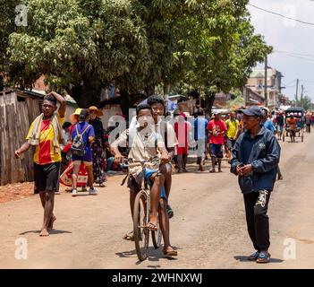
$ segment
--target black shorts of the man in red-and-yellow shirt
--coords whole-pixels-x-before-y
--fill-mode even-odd
[[[34,172],[35,194],[43,191],[59,191],[60,162],[45,165],[35,163]]]

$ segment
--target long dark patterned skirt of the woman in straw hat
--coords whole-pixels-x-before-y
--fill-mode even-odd
[[[93,173],[94,182],[102,184],[106,181],[106,174],[104,170],[104,158],[103,158],[103,148],[99,140],[94,141],[91,144],[91,151],[93,155]]]

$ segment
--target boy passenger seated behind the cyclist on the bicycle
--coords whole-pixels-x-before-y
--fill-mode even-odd
[[[174,159],[174,149],[178,145],[178,141],[175,136],[174,127],[162,119],[165,116],[165,101],[159,96],[150,96],[148,104],[151,108],[154,122],[155,131],[163,137],[165,143],[165,149],[168,152],[169,162],[160,165],[159,171],[165,177],[165,195],[166,195],[166,211],[169,218],[174,216],[174,211],[169,204],[169,196],[173,178],[173,167],[171,161]]]

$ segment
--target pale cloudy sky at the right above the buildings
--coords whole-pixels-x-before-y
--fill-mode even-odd
[[[314,0],[250,0],[250,4],[313,23],[294,22],[248,5],[255,32],[263,35],[267,44],[274,48],[268,56],[268,65],[284,74],[282,86],[286,89],[282,92],[293,100],[296,79],[300,79],[299,99],[303,84],[304,95],[314,101]]]

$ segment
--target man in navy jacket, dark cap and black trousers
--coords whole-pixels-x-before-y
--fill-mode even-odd
[[[276,182],[280,146],[274,133],[260,126],[259,107],[242,112],[245,132],[234,144],[231,172],[239,176],[248,231],[256,249],[248,260],[267,263],[270,259],[267,207]]]

